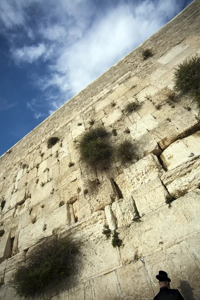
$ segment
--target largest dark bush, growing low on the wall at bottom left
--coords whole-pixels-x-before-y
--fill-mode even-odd
[[[71,235],[53,234],[40,240],[12,276],[10,284],[16,294],[36,297],[47,285],[72,275],[74,260],[80,258],[79,248],[80,242]]]

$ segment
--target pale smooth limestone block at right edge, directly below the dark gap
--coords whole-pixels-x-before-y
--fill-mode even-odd
[[[200,131],[178,139],[161,153],[160,158],[167,170],[171,170],[180,163],[187,161],[193,155],[200,154]]]

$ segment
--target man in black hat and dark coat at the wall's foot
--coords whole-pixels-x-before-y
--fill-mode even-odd
[[[178,289],[170,289],[168,275],[165,271],[159,271],[156,278],[159,280],[159,292],[154,296],[153,300],[184,300]]]

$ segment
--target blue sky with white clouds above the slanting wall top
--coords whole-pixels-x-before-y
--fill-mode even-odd
[[[0,0],[0,155],[191,0]]]

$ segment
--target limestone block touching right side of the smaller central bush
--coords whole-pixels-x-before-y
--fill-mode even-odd
[[[140,159],[149,153],[159,155],[161,149],[156,140],[149,134],[149,132],[136,138],[133,142],[136,156]]]

